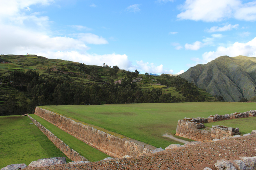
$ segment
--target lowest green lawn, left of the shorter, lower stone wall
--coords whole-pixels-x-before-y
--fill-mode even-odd
[[[0,169],[40,158],[65,156],[27,117],[1,116]],[[71,160],[66,157],[67,162]]]

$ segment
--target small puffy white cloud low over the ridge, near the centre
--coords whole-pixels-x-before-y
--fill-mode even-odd
[[[143,62],[141,61],[136,61],[138,70],[143,70],[144,72],[148,73],[162,73],[163,72],[163,64],[155,66],[154,63],[149,63],[149,62]]]

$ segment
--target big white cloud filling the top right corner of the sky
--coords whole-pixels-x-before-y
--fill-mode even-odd
[[[222,21],[228,18],[256,20],[256,2],[242,3],[241,0],[186,0],[177,18],[205,22]]]

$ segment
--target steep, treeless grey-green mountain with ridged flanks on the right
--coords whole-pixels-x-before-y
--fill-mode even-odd
[[[179,75],[213,96],[238,102],[256,96],[256,58],[221,56],[191,67]]]

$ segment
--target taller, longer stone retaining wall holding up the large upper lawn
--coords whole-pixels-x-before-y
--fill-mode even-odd
[[[36,107],[35,114],[114,158],[122,158],[124,155],[137,156],[141,153],[150,153],[150,150],[144,148],[143,145],[124,141],[121,138],[75,122],[51,111]]]

